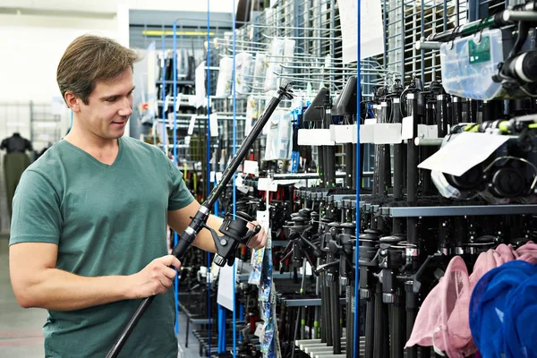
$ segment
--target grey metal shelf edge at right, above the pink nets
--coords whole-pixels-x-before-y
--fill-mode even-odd
[[[450,207],[382,208],[390,217],[463,217],[537,214],[537,205],[471,205]]]

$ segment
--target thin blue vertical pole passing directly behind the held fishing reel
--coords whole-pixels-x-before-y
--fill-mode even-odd
[[[237,103],[236,103],[236,73],[235,73],[235,60],[236,60],[236,13],[235,13],[235,0],[233,0],[233,76],[232,76],[232,88],[233,88],[233,157],[237,152]],[[237,196],[235,188],[235,175],[233,175],[233,215],[236,214]],[[235,263],[233,263],[233,285],[235,285]],[[233,290],[233,356],[237,355],[237,317],[235,310],[235,290]]]

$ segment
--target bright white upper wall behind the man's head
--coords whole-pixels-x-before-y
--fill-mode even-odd
[[[59,95],[55,82],[57,64],[69,43],[85,33],[116,38],[117,22],[0,15],[0,100],[50,101]]]

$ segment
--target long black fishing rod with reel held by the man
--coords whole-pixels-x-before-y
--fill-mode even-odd
[[[289,82],[286,86],[280,87],[277,91],[277,95],[270,100],[265,108],[265,112],[253,126],[250,134],[244,139],[243,144],[237,150],[237,153],[231,160],[229,166],[227,166],[226,171],[222,175],[222,180],[209,193],[208,199],[201,204],[196,215],[192,217],[189,226],[187,226],[184,229],[183,234],[180,235],[181,240],[179,240],[172,251],[172,255],[178,260],[183,260],[186,251],[194,242],[194,239],[200,233],[201,229],[206,228],[212,235],[217,247],[217,254],[215,255],[214,262],[220,267],[224,266],[226,263],[229,266],[232,266],[238,245],[241,243],[248,243],[248,240],[250,240],[254,234],[260,232],[261,226],[259,225],[255,226],[254,229],[248,229],[247,224],[251,221],[251,217],[240,211],[238,211],[235,216],[232,213],[226,214],[224,222],[218,230],[223,235],[218,235],[214,229],[207,226],[207,219],[209,218],[210,209],[215,205],[220,195],[225,192],[227,183],[232,180],[235,171],[241,165],[243,158],[250,152],[257,137],[260,135],[263,127],[267,124],[268,119],[274,113],[280,102],[284,98],[293,99],[292,86],[293,83]],[[121,352],[127,339],[131,336],[132,330],[136,327],[141,316],[147,311],[149,305],[153,303],[155,297],[156,296],[149,296],[141,301],[136,311],[132,314],[131,319],[125,325],[123,332],[108,351],[107,358],[115,358]]]

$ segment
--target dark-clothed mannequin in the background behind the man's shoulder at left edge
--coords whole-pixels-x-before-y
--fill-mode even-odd
[[[30,166],[30,157],[26,154],[26,150],[31,152],[33,149],[31,142],[22,138],[18,132],[14,132],[11,137],[4,139],[0,144],[0,149],[7,151],[4,156],[4,178],[7,191],[7,207],[11,217],[15,189],[21,179],[22,172]]]

